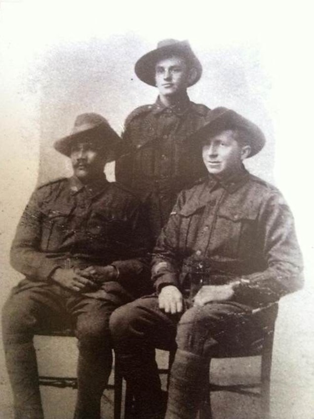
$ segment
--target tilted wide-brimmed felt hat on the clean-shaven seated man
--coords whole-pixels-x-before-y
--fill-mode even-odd
[[[262,130],[232,109],[224,107],[210,111],[206,123],[192,135],[192,139],[198,143],[222,131],[235,129],[245,134],[245,142],[251,147],[247,157],[252,157],[262,150],[266,142]]]

